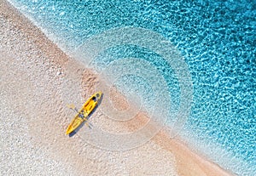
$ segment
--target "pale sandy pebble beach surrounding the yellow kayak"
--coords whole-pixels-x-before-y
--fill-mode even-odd
[[[131,150],[102,150],[65,130],[73,117],[63,101],[67,63],[86,99],[100,82],[30,20],[0,0],[0,173],[5,175],[233,175],[161,130]],[[72,91],[72,90],[71,90]],[[64,95],[63,95],[64,94]],[[127,102],[116,91],[120,108]],[[73,102],[70,102],[73,103]],[[100,111],[91,122],[109,130],[133,131],[147,122],[143,112],[129,124],[108,122]],[[100,119],[100,120],[99,120]],[[113,129],[114,125],[114,129]],[[85,128],[85,127],[84,127]]]

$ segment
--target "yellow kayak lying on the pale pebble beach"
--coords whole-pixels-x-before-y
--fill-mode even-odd
[[[90,113],[96,108],[98,102],[102,98],[102,92],[97,92],[93,94],[90,99],[88,99],[83,107],[78,111],[77,115],[73,118],[73,121],[68,125],[66,134],[72,133],[73,130],[79,128],[79,126],[88,120]]]

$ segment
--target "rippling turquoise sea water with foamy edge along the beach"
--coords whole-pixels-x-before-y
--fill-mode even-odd
[[[166,37],[183,54],[193,80],[192,111],[183,137],[234,173],[256,173],[255,2],[12,2],[70,53],[84,39],[114,27],[143,27]],[[144,48],[120,46],[106,51],[98,62],[125,57],[143,58],[160,70],[175,110],[177,78],[160,56]]]

